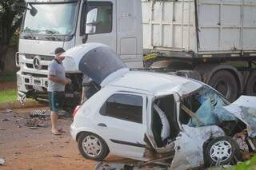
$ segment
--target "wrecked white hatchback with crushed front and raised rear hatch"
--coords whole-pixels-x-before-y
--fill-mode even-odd
[[[88,159],[103,160],[111,152],[186,169],[236,164],[241,152],[256,150],[255,97],[242,96],[230,105],[201,82],[130,70],[98,43],[63,55],[102,86],[75,110],[70,127]]]

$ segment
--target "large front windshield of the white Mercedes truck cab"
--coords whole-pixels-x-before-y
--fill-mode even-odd
[[[77,2],[32,5],[38,14],[32,16],[26,12],[23,33],[68,35],[73,32]]]

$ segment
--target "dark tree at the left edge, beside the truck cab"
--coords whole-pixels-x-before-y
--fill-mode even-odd
[[[22,9],[12,10],[16,1],[0,0],[0,72],[4,69],[10,40],[22,24]]]

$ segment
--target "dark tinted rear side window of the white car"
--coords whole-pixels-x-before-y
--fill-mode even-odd
[[[142,124],[143,98],[131,94],[114,94],[102,105],[100,114]]]

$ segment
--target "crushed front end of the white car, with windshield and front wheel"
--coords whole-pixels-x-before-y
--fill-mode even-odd
[[[175,143],[172,167],[236,164],[246,159],[246,153],[255,152],[255,101],[242,96],[230,104],[208,85],[182,95],[178,117],[183,130]]]

